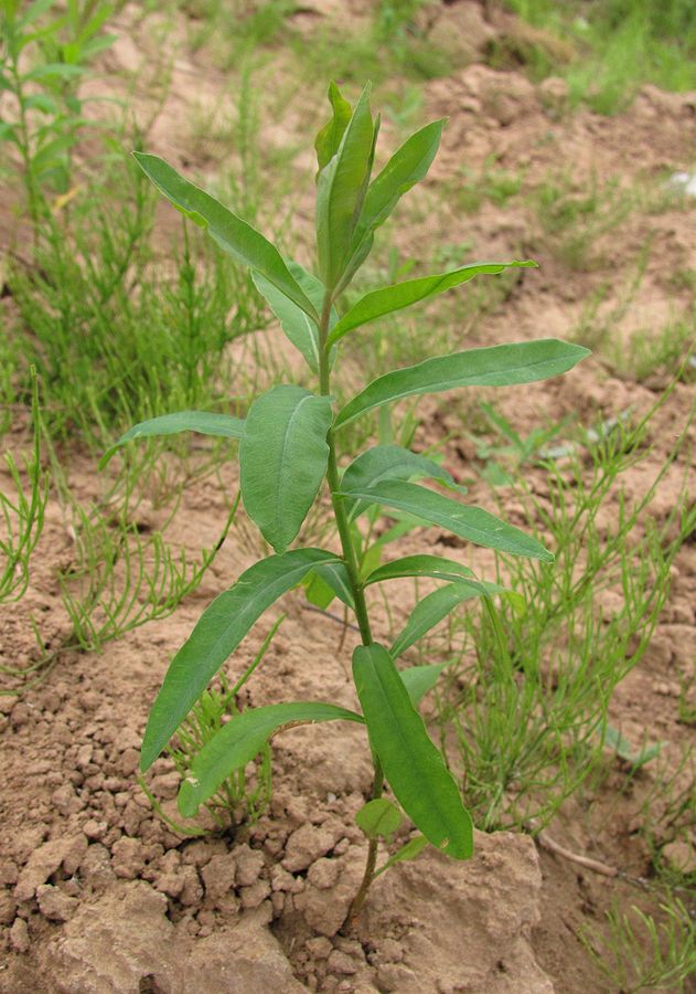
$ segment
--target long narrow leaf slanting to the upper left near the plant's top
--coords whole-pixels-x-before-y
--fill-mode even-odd
[[[176,210],[205,228],[221,248],[236,262],[259,272],[313,320],[319,320],[315,308],[292,277],[282,256],[263,234],[224,208],[210,193],[189,182],[158,156],[133,152],[133,157]]]

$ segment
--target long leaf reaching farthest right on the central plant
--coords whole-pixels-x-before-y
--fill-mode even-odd
[[[582,346],[543,338],[437,356],[373,380],[343,408],[334,427],[342,427],[382,404],[419,393],[440,393],[457,387],[512,387],[557,377],[589,355],[589,349]]]

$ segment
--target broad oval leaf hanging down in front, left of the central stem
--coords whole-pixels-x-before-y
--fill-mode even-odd
[[[274,387],[254,401],[239,446],[242,499],[276,552],[297,537],[326,472],[331,398]]]

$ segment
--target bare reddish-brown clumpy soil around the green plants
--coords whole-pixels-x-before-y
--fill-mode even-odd
[[[463,32],[461,8],[477,8],[483,45],[491,25],[475,4],[443,7],[452,21],[440,32]],[[450,14],[447,12],[450,11]],[[459,12],[458,12],[459,11]],[[465,38],[471,40],[471,24]],[[475,32],[474,32],[475,34]],[[462,34],[462,38],[464,34]],[[470,43],[470,42],[468,42]],[[463,42],[462,42],[463,44]],[[475,44],[474,44],[475,50]],[[139,59],[127,27],[107,54],[110,70]],[[475,54],[475,52],[474,52]],[[171,92],[153,127],[149,150],[175,162],[191,158],[172,121],[195,99],[214,99],[222,75],[185,53],[176,60]],[[454,183],[462,163],[474,172],[495,157],[496,169],[524,169],[527,179],[563,163],[575,177],[595,175],[638,188],[647,180],[693,167],[696,94],[671,95],[645,87],[617,117],[587,110],[568,115],[559,81],[534,86],[521,74],[482,64],[426,85],[428,115],[447,115],[442,150],[427,189]],[[142,97],[144,101],[144,97]],[[298,112],[299,114],[299,112]],[[272,128],[271,128],[272,130]],[[393,145],[387,121],[384,144]],[[696,208],[696,202],[694,203]],[[620,228],[598,235],[593,251],[603,267],[569,274],[543,233],[531,230],[524,205],[486,201],[474,213],[456,204],[414,220],[399,248],[417,253],[432,232],[442,243],[473,242],[479,257],[525,252],[540,265],[525,273],[504,305],[477,326],[474,338],[454,328],[451,348],[567,337],[583,305],[607,279],[621,274],[602,303],[621,298],[622,279],[642,245],[652,251],[640,289],[617,329],[629,348],[635,327],[657,325],[688,306],[693,289],[675,287],[675,271],[696,269],[694,208],[683,203],[655,213],[636,212]],[[300,208],[300,214],[302,209]],[[620,363],[592,358],[548,383],[496,398],[525,434],[545,419],[572,415],[596,424],[628,408],[646,411],[664,387],[636,383]],[[696,387],[679,383],[651,427],[653,450],[624,483],[640,494],[684,431]],[[456,403],[452,400],[452,403]],[[435,402],[419,408],[424,441],[461,431],[461,419]],[[21,436],[14,441],[21,443]],[[696,431],[688,429],[688,443]],[[458,479],[473,475],[475,452],[467,441],[445,445],[446,465]],[[667,475],[650,514],[664,520],[678,499],[685,474],[693,486],[689,444]],[[538,473],[538,470],[535,470]],[[234,487],[236,469],[224,470]],[[690,474],[690,477],[689,477]],[[71,454],[71,480],[97,493],[96,467]],[[539,474],[538,486],[543,487]],[[192,552],[210,547],[225,516],[225,495],[212,480],[186,490],[170,541]],[[472,498],[490,501],[482,485]],[[505,491],[501,512],[505,516]],[[514,498],[510,497],[512,505]],[[510,508],[512,520],[518,509]],[[611,509],[608,510],[610,512]],[[29,617],[41,620],[50,649],[67,632],[55,573],[69,563],[73,542],[63,512],[51,500],[31,585],[19,605],[0,614],[0,662],[32,658]],[[574,863],[529,836],[477,835],[470,863],[435,853],[401,864],[374,885],[354,931],[342,932],[364,864],[365,845],[354,814],[370,790],[371,763],[360,729],[323,726],[292,730],[274,743],[270,810],[236,838],[182,838],[152,811],[136,780],[138,750],[149,706],[169,658],[207,602],[257,557],[233,532],[199,590],[172,618],[153,622],[101,654],[61,659],[45,683],[20,699],[0,698],[0,991],[12,992],[398,992],[398,994],[576,994],[602,990],[602,980],[579,938],[599,924],[614,899],[654,910],[650,893],[620,877]],[[395,552],[427,549],[437,530],[416,532]],[[468,550],[448,554],[469,557]],[[467,562],[470,560],[467,559]],[[297,593],[282,602],[287,614],[269,654],[246,692],[246,704],[325,698],[355,707],[350,678],[351,636],[323,620]],[[665,741],[664,761],[676,776],[694,730],[679,721],[678,700],[696,660],[696,546],[687,542],[673,569],[667,604],[643,660],[620,686],[611,720],[634,742]],[[379,633],[386,637],[385,631]],[[245,639],[232,664],[240,673],[267,626]],[[657,769],[656,766],[654,768]],[[165,811],[175,811],[178,774],[168,759],[149,784]],[[570,801],[547,829],[574,854],[599,860],[631,878],[651,874],[650,853],[635,823],[636,796],[655,787],[647,764],[628,790],[609,778],[589,804]],[[687,780],[686,780],[687,782]],[[685,840],[687,856],[693,835]]]

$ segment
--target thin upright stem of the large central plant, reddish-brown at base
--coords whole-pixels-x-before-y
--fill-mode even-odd
[[[331,392],[331,367],[329,355],[330,350],[326,349],[326,336],[329,334],[329,321],[331,319],[331,305],[332,295],[330,290],[326,290],[324,294],[321,309],[321,320],[319,324],[319,389],[324,396],[328,396]],[[355,546],[353,543],[353,536],[351,535],[351,526],[347,519],[347,515],[345,514],[343,498],[338,496],[341,484],[339,480],[339,467],[336,462],[335,443],[333,440],[333,430],[331,429],[329,430],[326,442],[329,444],[326,479],[329,483],[329,490],[331,493],[331,501],[333,504],[333,514],[335,517],[336,527],[339,529],[339,537],[341,539],[343,560],[345,562],[345,568],[351,584],[351,592],[353,594],[353,602],[355,604],[355,620],[357,621],[357,625],[360,627],[360,634],[363,641],[363,645],[371,645],[372,632],[370,630],[367,604],[365,603],[365,591],[360,579],[357,556],[355,553]],[[372,759],[375,770],[375,775],[372,784],[372,800],[374,801],[377,797],[382,796],[382,790],[384,786],[384,771],[382,769],[379,759],[374,752],[372,754]],[[365,903],[365,898],[367,896],[370,885],[374,879],[375,866],[377,863],[377,845],[378,843],[376,838],[370,839],[370,845],[367,848],[367,860],[365,863],[365,873],[363,874],[360,889],[353,898],[346,917],[346,923],[349,926],[352,926],[360,914],[360,911]]]

